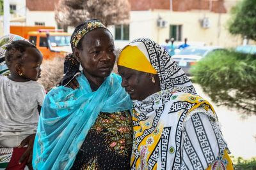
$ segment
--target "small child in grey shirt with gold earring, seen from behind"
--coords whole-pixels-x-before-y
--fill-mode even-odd
[[[42,59],[39,50],[27,41],[13,41],[6,47],[10,75],[0,76],[0,169],[24,169],[31,163],[45,97],[44,87],[36,82]],[[23,148],[25,145],[28,147]]]

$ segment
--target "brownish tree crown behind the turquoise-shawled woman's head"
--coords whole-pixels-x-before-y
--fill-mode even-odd
[[[62,27],[77,26],[84,20],[96,18],[104,25],[127,24],[128,0],[60,0],[55,18]]]

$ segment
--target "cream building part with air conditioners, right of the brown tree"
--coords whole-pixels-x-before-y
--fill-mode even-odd
[[[228,11],[232,0],[129,0],[129,25],[111,27],[118,47],[135,38],[147,37],[158,43],[175,38],[180,43],[188,38],[194,45],[232,47],[242,43],[239,36],[227,31]]]

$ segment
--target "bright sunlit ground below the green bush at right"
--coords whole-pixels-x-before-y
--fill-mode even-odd
[[[211,102],[200,85],[193,83],[196,92]],[[228,143],[231,155],[250,159],[256,157],[256,116],[243,118],[243,113],[212,103],[221,123],[221,131]]]

